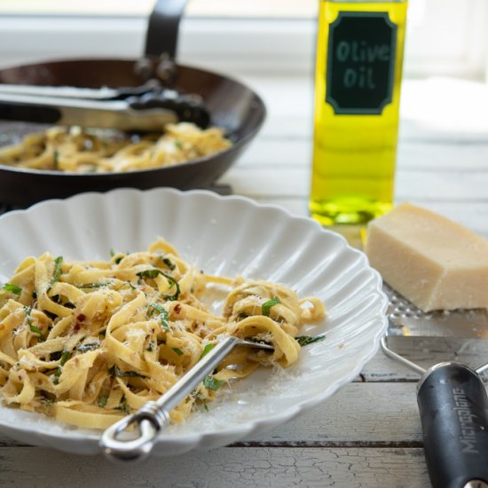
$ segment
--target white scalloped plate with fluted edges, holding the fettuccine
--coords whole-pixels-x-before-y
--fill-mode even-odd
[[[287,370],[260,369],[232,385],[183,424],[161,435],[154,453],[178,454],[227,445],[272,429],[350,382],[371,358],[386,329],[382,280],[366,256],[311,219],[242,197],[121,189],[45,201],[0,217],[0,275],[25,256],[106,259],[111,248],[146,249],[158,236],[210,274],[284,283],[317,295],[327,319],[301,334],[326,333]],[[59,424],[38,413],[0,406],[0,431],[20,442],[70,453],[98,453],[99,433]]]

